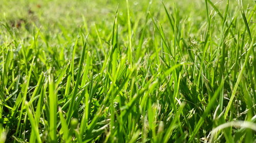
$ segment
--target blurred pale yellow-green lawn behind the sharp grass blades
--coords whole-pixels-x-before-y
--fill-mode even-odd
[[[211,1],[217,7],[220,13],[225,12],[226,1],[214,0]],[[117,7],[118,10],[118,26],[119,34],[127,31],[127,7],[126,1],[102,1],[102,0],[55,0],[55,1],[0,1],[0,21],[16,30],[17,36],[29,35],[35,27],[40,28],[42,33],[46,32],[46,38],[51,35],[51,39],[47,39],[49,43],[53,40],[53,35],[60,33],[58,37],[66,37],[66,39],[76,36],[76,32],[82,26],[91,36],[95,35],[95,25],[97,26],[100,36],[103,39],[109,39],[112,30],[113,19]],[[153,17],[160,21],[160,24],[168,35],[170,26],[168,18],[164,12],[165,4],[170,14],[174,13],[174,3],[176,3],[176,14],[181,25],[186,30],[187,37],[200,39],[201,32],[205,30],[207,23],[207,14],[205,8],[205,1],[129,1],[130,3],[130,18],[133,30],[140,28],[141,24],[145,24],[146,15],[151,12]],[[239,13],[239,1],[230,1],[228,18],[233,17]],[[243,1],[244,10],[252,9],[253,1]],[[214,15],[212,21],[215,25],[221,25],[221,17],[208,4],[209,13]],[[252,17],[251,21],[255,21]],[[241,19],[241,17],[240,17]],[[242,21],[242,20],[241,20]],[[153,28],[153,25],[151,25]],[[193,28],[191,28],[193,27]],[[220,33],[220,26],[216,26],[217,33]],[[2,29],[2,32],[6,28]],[[0,39],[3,39],[4,33],[1,33]],[[104,37],[108,35],[108,37]],[[202,38],[202,37],[201,37]],[[89,38],[90,40],[90,38]],[[94,42],[94,41],[92,41]],[[53,42],[54,43],[54,42]],[[62,43],[59,43],[62,44]]]

